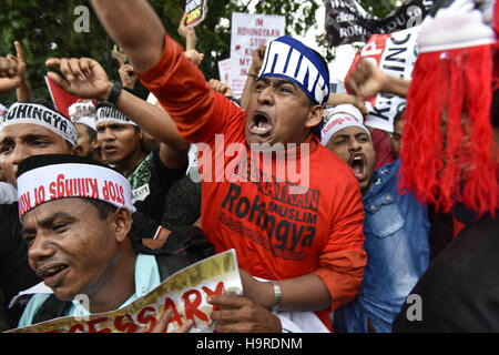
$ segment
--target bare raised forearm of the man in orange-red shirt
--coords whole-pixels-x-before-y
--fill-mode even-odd
[[[112,40],[130,58],[136,72],[154,65],[163,53],[164,28],[145,0],[91,0]]]

